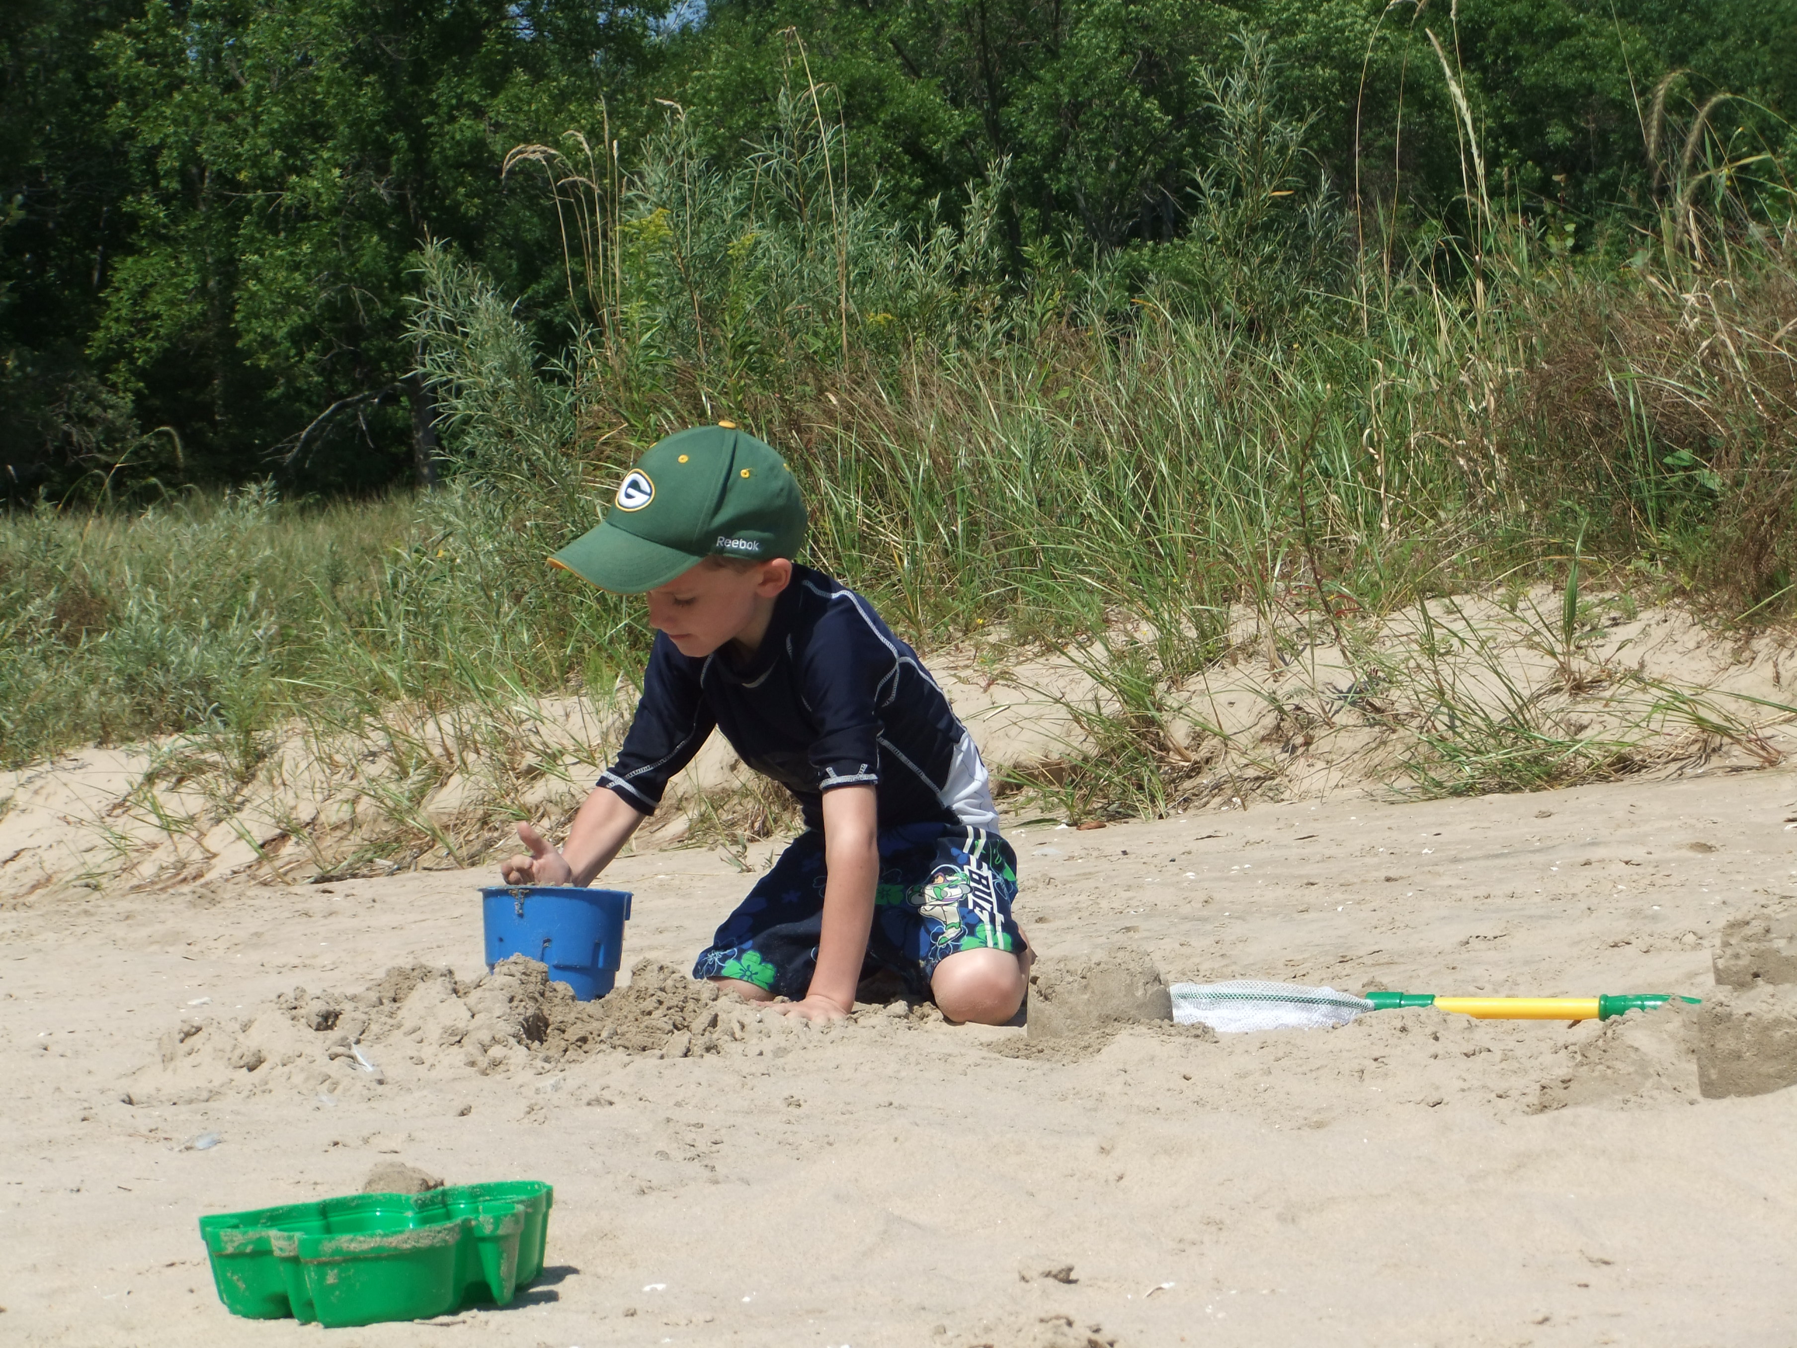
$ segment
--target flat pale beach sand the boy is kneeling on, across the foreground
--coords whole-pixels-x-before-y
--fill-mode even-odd
[[[1116,951],[1705,998],[1601,1026],[800,1028],[685,980],[748,884],[703,852],[618,863],[584,1008],[482,967],[478,872],[47,886],[0,913],[0,1341],[316,1343],[225,1314],[196,1219],[401,1163],[553,1183],[546,1273],[331,1344],[1792,1343],[1793,816],[1770,771],[1012,829],[1042,1005]]]

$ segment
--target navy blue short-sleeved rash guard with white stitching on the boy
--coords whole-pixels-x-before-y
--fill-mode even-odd
[[[916,652],[868,600],[807,566],[792,568],[744,669],[722,651],[683,656],[656,633],[636,721],[598,785],[654,812],[713,726],[798,796],[810,829],[823,827],[825,791],[872,785],[881,829],[997,830],[979,749]]]

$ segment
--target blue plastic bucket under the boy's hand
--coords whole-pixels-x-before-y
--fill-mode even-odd
[[[631,917],[631,895],[624,890],[516,884],[482,890],[480,899],[489,969],[528,954],[546,963],[550,980],[571,987],[580,1001],[611,992]]]

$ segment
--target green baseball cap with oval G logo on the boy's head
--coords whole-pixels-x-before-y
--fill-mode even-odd
[[[606,521],[550,557],[600,590],[640,595],[706,557],[771,561],[805,541],[805,501],[771,446],[731,424],[658,440],[624,474]]]

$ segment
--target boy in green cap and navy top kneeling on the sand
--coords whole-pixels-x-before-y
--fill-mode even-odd
[[[528,823],[507,884],[591,884],[713,726],[785,785],[805,832],[694,965],[694,978],[834,1021],[881,967],[951,1021],[1003,1024],[1030,951],[1012,920],[1017,859],[979,751],[916,652],[873,607],[792,563],[798,483],[730,422],[652,446],[598,528],[550,561],[649,599],[656,643],[618,760],[568,841]]]

